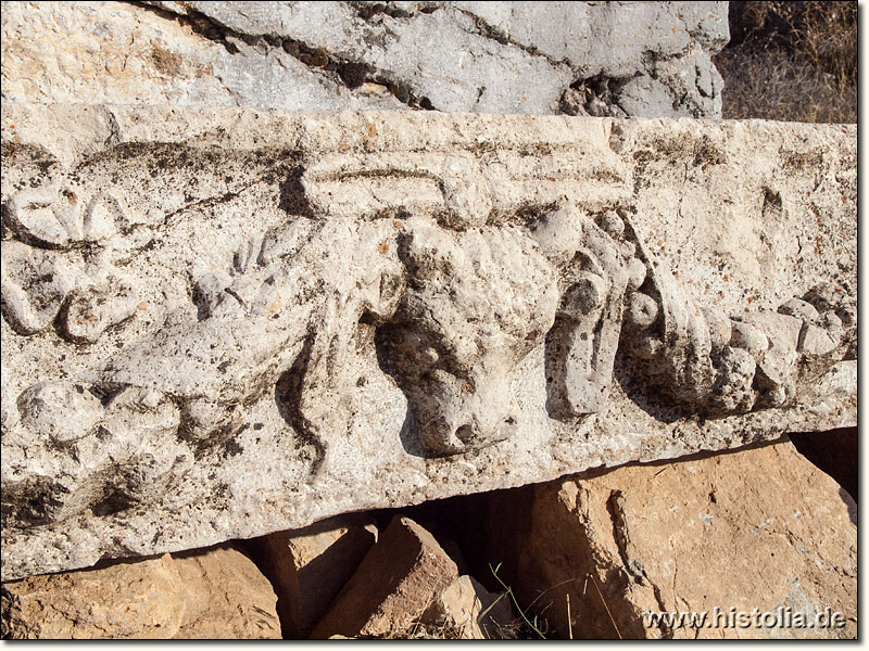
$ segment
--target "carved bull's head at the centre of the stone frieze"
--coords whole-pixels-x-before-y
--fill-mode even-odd
[[[426,447],[483,447],[507,436],[511,373],[553,323],[554,270],[518,230],[456,237],[412,221],[399,243],[407,290],[378,343]]]

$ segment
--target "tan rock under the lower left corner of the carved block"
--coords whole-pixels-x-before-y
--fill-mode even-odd
[[[275,592],[222,547],[3,584],[3,638],[280,639]]]

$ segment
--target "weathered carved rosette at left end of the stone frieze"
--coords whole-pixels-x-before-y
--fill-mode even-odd
[[[18,334],[52,323],[64,339],[93,343],[133,316],[133,282],[112,264],[117,199],[83,196],[68,179],[47,174],[3,200],[3,317]]]

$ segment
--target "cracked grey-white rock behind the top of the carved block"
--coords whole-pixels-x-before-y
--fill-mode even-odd
[[[2,94],[720,117],[727,2],[7,2]]]

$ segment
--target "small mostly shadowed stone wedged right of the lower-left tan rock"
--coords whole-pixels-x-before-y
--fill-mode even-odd
[[[306,638],[377,542],[364,514],[338,515],[301,531],[252,541],[260,567],[278,595],[285,638]]]

